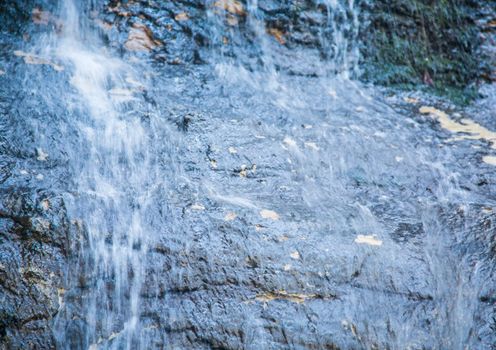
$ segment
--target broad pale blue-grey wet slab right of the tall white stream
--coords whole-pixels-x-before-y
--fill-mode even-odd
[[[274,106],[264,111],[249,102],[263,99],[259,94],[229,89],[222,102],[215,88],[205,87],[203,100],[215,102],[189,114],[185,171],[198,186],[191,203],[200,204],[183,208],[184,230],[162,236],[161,247],[182,241],[177,251],[165,250],[165,270],[149,272],[153,280],[171,276],[156,282],[165,289],[167,310],[151,298],[151,308],[161,310],[153,313],[157,328],[173,321],[169,344],[420,349],[466,341],[456,319],[468,310],[493,312],[484,296],[494,288],[494,213],[492,204],[486,207],[493,168],[470,145],[443,145],[439,126],[404,105],[400,114],[381,104],[361,113],[354,104],[320,105],[323,110],[312,116],[305,110],[299,119],[297,108],[290,116]],[[229,112],[216,113],[214,105],[230,106]],[[387,132],[395,127],[397,133]],[[450,159],[443,163],[450,170],[441,172],[458,176],[454,196],[446,193],[452,184],[442,183],[449,175],[428,165],[437,157]],[[484,180],[466,169],[468,159]],[[261,210],[277,216],[264,218]],[[364,243],[359,234],[373,237]],[[179,264],[171,256],[181,256]],[[469,277],[474,259],[488,264],[477,272],[487,279],[460,285],[459,279],[477,279]],[[457,288],[467,299],[452,294]],[[485,320],[475,326],[487,337],[485,345],[473,343],[481,348],[492,341]]]

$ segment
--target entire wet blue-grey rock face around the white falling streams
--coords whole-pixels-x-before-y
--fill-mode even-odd
[[[68,154],[81,147],[74,120],[84,113],[61,98],[72,89],[70,67],[14,54],[57,30],[57,20],[38,10],[33,20],[33,9],[56,10],[10,5],[0,4],[0,348],[110,347],[121,341],[120,329],[97,344],[82,339],[79,307],[92,276],[77,285],[68,278],[87,243],[84,223],[69,218],[65,205],[77,196],[77,159]],[[371,23],[362,34],[344,30],[352,41],[370,38],[366,79],[430,77],[461,88],[489,69],[473,55],[478,6],[377,1],[361,11]],[[442,129],[435,116],[419,113],[422,103],[436,102],[427,96],[387,98],[324,79],[354,58],[327,50],[333,33],[321,31],[322,5],[263,2],[263,42],[244,2],[109,2],[99,10],[87,15],[109,47],[148,62],[135,67],[150,81],[130,110],[147,130],[167,130],[148,135],[163,182],[150,194],[155,231],[142,257],[141,328],[132,348],[496,344],[496,177],[483,162],[495,153],[491,140]],[[431,13],[447,20],[439,31]],[[455,23],[470,29],[459,36]],[[483,23],[489,37],[491,22]],[[413,51],[398,55],[407,40]],[[338,64],[322,69],[319,60],[333,57]],[[273,68],[281,73],[275,80]],[[492,103],[438,108],[494,131]],[[61,310],[74,317],[62,322]],[[66,339],[57,339],[61,324]]]

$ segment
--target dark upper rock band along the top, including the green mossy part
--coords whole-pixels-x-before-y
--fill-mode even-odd
[[[271,60],[277,69],[303,75],[322,74],[317,63],[321,59],[337,59],[339,64],[331,69],[343,69],[332,44],[336,29],[322,28],[328,21],[339,24],[356,20],[351,26],[338,26],[338,31],[346,39],[341,44],[348,45],[348,66],[360,58],[352,47],[354,42],[361,42],[361,73],[357,70],[354,74],[365,81],[430,88],[456,102],[475,97],[478,84],[494,81],[491,62],[495,55],[490,49],[494,47],[494,1],[358,1],[356,13],[325,6],[325,2],[264,2],[259,16],[275,40],[263,45],[254,41],[254,28],[246,21],[246,3],[238,4],[241,10],[231,13],[203,2],[150,6],[135,1],[123,4],[121,12],[114,8],[107,20],[117,20],[119,25],[136,20],[146,23],[156,37],[168,43],[159,57],[169,63],[204,62],[208,60],[208,54],[202,55],[204,46],[222,46],[224,55],[245,64],[259,64],[254,55],[261,56],[264,50],[275,52]],[[136,19],[144,9],[147,15]],[[227,14],[222,23],[212,23],[207,10]],[[217,32],[212,30],[215,24]]]

